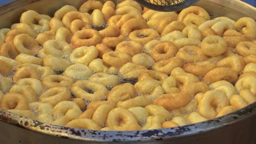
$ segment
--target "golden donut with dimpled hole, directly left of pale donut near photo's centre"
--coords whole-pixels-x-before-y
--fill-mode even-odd
[[[102,59],[106,64],[114,67],[120,67],[121,65],[131,62],[131,57],[128,54],[120,51],[104,53]]]

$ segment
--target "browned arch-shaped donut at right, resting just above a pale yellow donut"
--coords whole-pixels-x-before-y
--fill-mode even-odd
[[[229,82],[235,82],[237,80],[237,73],[236,71],[230,69],[230,68],[214,68],[210,70],[204,77],[203,79],[205,82],[216,82],[219,80],[226,80]]]

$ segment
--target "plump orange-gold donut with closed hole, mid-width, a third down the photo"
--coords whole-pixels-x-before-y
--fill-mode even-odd
[[[134,56],[138,53],[141,53],[143,50],[143,46],[141,43],[138,43],[137,41],[123,41],[115,47],[115,51],[121,51],[125,52],[130,56]]]

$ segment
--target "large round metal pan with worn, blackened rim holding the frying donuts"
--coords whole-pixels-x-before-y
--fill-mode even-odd
[[[0,28],[18,22],[33,9],[53,16],[65,4],[79,7],[83,0],[19,0],[0,7]],[[211,15],[256,19],[256,9],[240,1],[202,0],[197,3]],[[229,115],[183,127],[141,131],[97,131],[60,127],[13,115],[0,109],[0,143],[256,143],[256,103]]]

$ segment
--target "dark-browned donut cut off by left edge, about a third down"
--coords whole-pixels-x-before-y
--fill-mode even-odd
[[[19,53],[13,45],[8,43],[3,43],[2,45],[0,45],[0,56],[14,59],[18,55]]]

